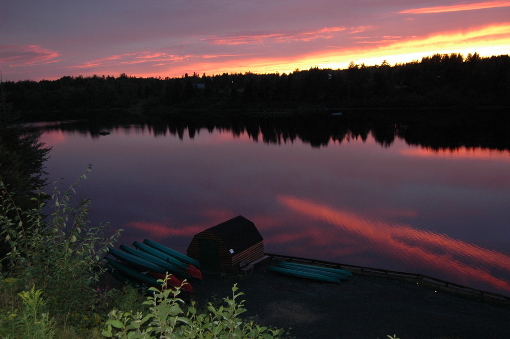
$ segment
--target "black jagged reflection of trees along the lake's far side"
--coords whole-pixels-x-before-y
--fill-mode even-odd
[[[132,125],[132,123],[134,125]],[[138,127],[134,127],[137,126]],[[174,135],[193,139],[201,131],[246,134],[254,142],[292,143],[299,139],[312,147],[340,144],[352,139],[366,141],[371,135],[383,147],[395,138],[407,144],[432,149],[481,147],[510,150],[510,117],[504,112],[349,112],[342,116],[326,113],[294,116],[231,116],[190,113],[171,115],[151,122],[77,122],[46,126],[46,129],[78,131],[93,138],[105,129],[148,129],[154,136]]]

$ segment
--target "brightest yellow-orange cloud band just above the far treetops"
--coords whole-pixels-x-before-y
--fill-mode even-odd
[[[374,43],[371,40],[378,41]],[[231,58],[221,60],[220,57],[217,60],[213,58],[206,60],[206,58],[196,56],[191,66],[174,64],[169,69],[171,73],[165,75],[180,76],[189,71],[206,74],[243,73],[246,71],[289,73],[295,69],[309,69],[315,66],[333,69],[347,68],[351,61],[356,64],[376,65],[386,60],[390,64],[396,64],[421,60],[424,56],[436,53],[461,53],[466,56],[469,53],[477,52],[482,57],[502,55],[508,54],[510,23],[487,25],[467,31],[441,32],[422,37],[410,36],[401,39],[394,36],[386,36],[382,39],[371,37],[365,38],[365,42],[363,44],[353,41],[350,48],[327,46],[309,54],[293,57],[258,58],[253,56],[250,58],[249,55],[243,55],[246,58],[235,61]]]

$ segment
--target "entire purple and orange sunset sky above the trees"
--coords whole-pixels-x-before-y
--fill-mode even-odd
[[[510,0],[1,0],[4,81],[510,54]]]

